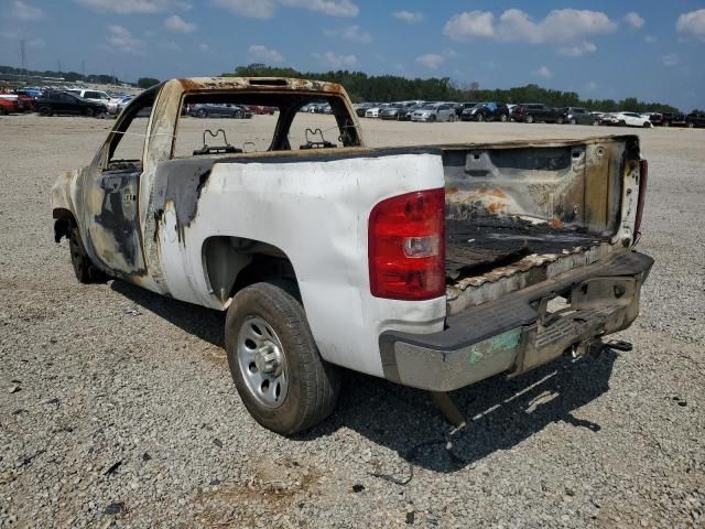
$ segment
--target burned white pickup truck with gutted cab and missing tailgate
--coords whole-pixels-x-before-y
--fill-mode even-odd
[[[135,97],[52,208],[79,281],[227,311],[245,406],[293,434],[333,411],[340,367],[448,411],[454,389],[599,352],[653,263],[633,250],[646,183],[636,136],[366,148],[338,85],[188,78]]]

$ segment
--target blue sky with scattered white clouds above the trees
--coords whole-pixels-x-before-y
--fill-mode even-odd
[[[699,0],[0,0],[0,64],[138,77],[265,63],[705,108]]]

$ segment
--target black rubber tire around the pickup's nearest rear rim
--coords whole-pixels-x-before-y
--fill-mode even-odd
[[[254,283],[236,294],[225,323],[228,365],[242,403],[262,427],[293,435],[326,419],[340,391],[339,368],[318,353],[306,314],[293,283]],[[240,330],[247,320],[263,320],[281,342],[285,357],[288,390],[275,408],[262,404],[240,369]]]

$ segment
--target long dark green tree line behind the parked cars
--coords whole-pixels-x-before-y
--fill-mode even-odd
[[[588,110],[614,112],[679,112],[679,109],[662,102],[640,101],[636,97],[615,99],[582,99],[575,91],[562,91],[530,84],[514,88],[481,89],[477,83],[458,86],[449,77],[410,79],[397,75],[367,75],[364,72],[330,71],[324,73],[301,73],[291,67],[249,64],[237,66],[234,72],[221,74],[236,77],[295,77],[327,80],[341,84],[350,98],[356,101],[403,101],[421,99],[425,101],[495,101],[505,104],[544,102],[555,107],[585,107]]]

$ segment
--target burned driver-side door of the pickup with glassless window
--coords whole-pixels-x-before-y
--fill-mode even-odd
[[[139,187],[149,117],[142,107],[120,116],[100,163],[85,175],[84,198],[89,244],[94,253],[126,279],[145,272],[139,218]]]

